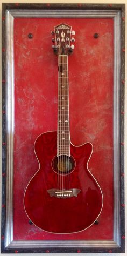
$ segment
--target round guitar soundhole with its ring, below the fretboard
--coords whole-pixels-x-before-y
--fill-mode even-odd
[[[68,157],[66,155],[55,156],[52,160],[53,170],[59,174],[69,174],[75,169],[75,160],[72,156]]]

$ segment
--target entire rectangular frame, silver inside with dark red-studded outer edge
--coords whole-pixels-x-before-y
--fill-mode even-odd
[[[15,18],[114,19],[114,236],[112,240],[13,239],[13,133]],[[124,252],[124,69],[125,4],[6,4],[2,5],[2,253],[123,253]],[[109,224],[110,225],[110,224]]]

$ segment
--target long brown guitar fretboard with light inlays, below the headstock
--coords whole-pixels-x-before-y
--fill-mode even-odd
[[[68,56],[58,56],[58,139],[57,156],[70,156]]]

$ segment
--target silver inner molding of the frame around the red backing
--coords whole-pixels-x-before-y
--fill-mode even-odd
[[[114,239],[111,241],[15,241],[13,240],[13,134],[14,134],[14,46],[13,23],[17,17],[63,17],[63,18],[113,18],[114,19]],[[6,248],[118,248],[121,246],[120,231],[120,65],[121,65],[121,11],[120,10],[6,10],[6,133],[7,133],[7,176],[6,176]]]

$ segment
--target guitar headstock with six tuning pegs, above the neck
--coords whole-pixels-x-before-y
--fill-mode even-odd
[[[75,31],[72,31],[72,26],[69,26],[65,23],[54,26],[54,31],[51,32],[54,35],[52,42],[55,43],[52,45],[54,53],[56,55],[70,55],[73,52],[75,41],[74,36]]]

